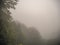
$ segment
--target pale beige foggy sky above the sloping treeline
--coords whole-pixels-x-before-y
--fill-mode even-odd
[[[58,7],[53,0],[20,0],[11,11],[14,20],[37,28],[43,38],[57,36]]]

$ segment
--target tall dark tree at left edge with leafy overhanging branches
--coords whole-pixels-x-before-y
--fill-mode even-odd
[[[0,45],[8,44],[9,24],[12,17],[10,8],[15,9],[17,0],[0,0]]]

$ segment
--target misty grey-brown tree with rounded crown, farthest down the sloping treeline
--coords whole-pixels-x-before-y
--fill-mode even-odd
[[[34,27],[29,28],[29,41],[32,45],[41,45],[41,35],[40,32]]]

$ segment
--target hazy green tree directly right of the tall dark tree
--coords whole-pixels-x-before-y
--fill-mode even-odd
[[[18,21],[13,21],[11,22],[11,27],[10,27],[10,35],[12,37],[9,37],[12,40],[10,41],[10,44],[13,43],[13,45],[18,45],[18,44],[23,44],[24,40],[24,35],[22,33],[21,29],[22,24],[19,23]]]

